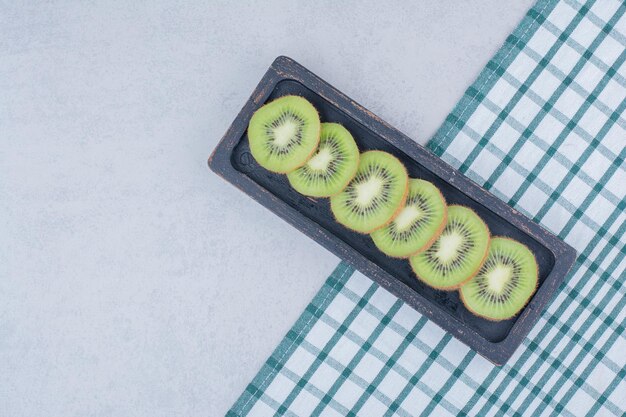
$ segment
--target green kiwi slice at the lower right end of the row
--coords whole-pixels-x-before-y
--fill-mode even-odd
[[[537,277],[537,261],[526,246],[495,237],[480,271],[459,292],[472,313],[488,320],[506,320],[530,300],[537,288]]]

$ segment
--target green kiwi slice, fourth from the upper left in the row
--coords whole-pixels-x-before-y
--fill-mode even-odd
[[[432,183],[409,180],[409,194],[400,213],[371,234],[376,247],[396,258],[407,258],[432,245],[446,225],[446,201]]]

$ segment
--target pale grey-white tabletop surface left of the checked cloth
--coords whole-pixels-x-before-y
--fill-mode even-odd
[[[0,415],[223,415],[337,263],[207,169],[267,66],[424,143],[531,1],[237,4],[1,3]]]

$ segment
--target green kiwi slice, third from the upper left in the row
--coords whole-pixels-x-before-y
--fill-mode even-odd
[[[335,219],[359,233],[387,224],[404,205],[409,177],[395,156],[382,151],[361,154],[356,176],[330,198]]]

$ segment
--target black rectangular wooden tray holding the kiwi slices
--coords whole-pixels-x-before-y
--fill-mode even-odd
[[[343,124],[362,152],[379,149],[395,155],[410,177],[434,183],[449,204],[474,209],[494,236],[509,236],[526,244],[539,264],[539,288],[526,308],[513,319],[501,322],[471,314],[456,291],[439,291],[422,284],[406,260],[387,257],[369,236],[336,223],[328,199],[305,197],[289,186],[284,175],[257,165],[246,134],[250,117],[265,102],[290,94],[311,101],[323,122]],[[497,365],[504,364],[521,344],[576,257],[572,247],[287,57],[274,61],[217,145],[209,166]]]

